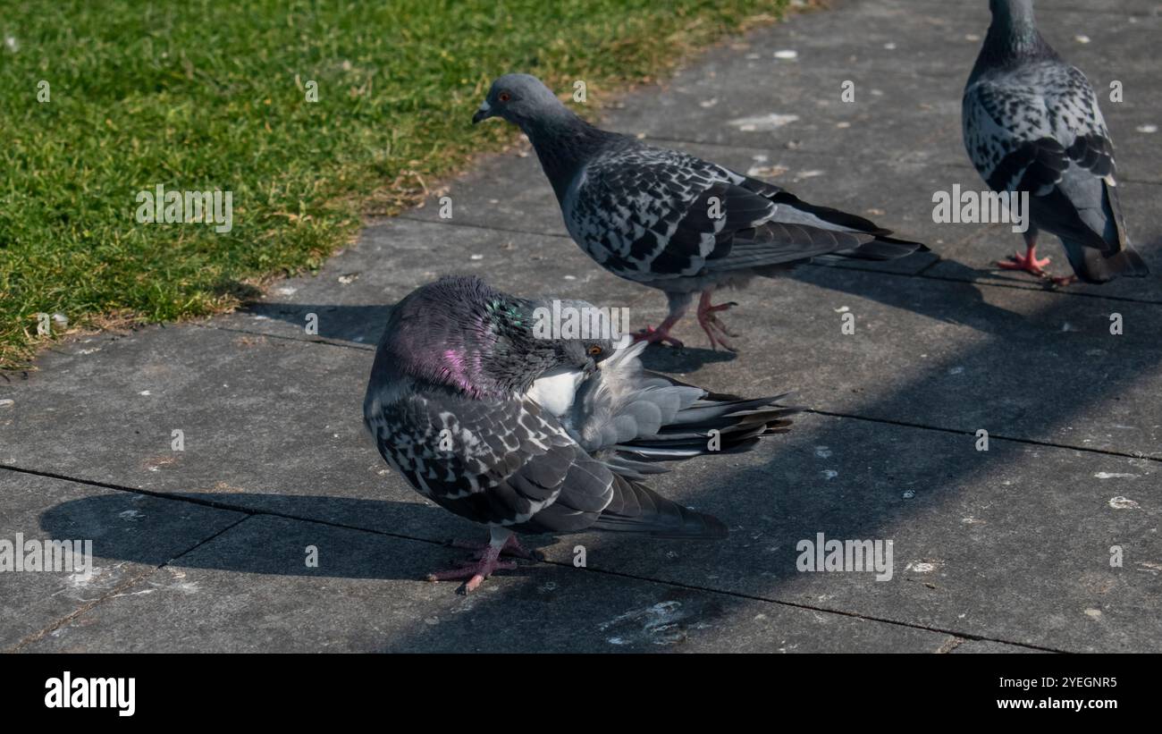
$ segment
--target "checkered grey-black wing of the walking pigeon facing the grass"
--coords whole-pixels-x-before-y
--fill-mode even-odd
[[[871,222],[675,151],[614,149],[562,200],[569,233],[597,262],[639,282],[791,264],[890,259],[923,245]]]

